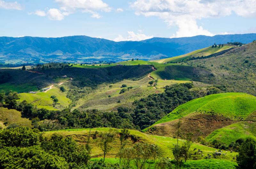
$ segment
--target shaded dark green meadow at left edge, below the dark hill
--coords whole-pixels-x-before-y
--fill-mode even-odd
[[[22,93],[22,92],[28,92],[28,91],[36,91],[38,90],[38,88],[36,86],[33,86],[30,83],[24,83],[24,84],[12,84],[12,83],[4,83],[4,84],[0,84],[0,91],[4,90],[4,91],[14,91],[14,92],[18,92],[18,93]]]

